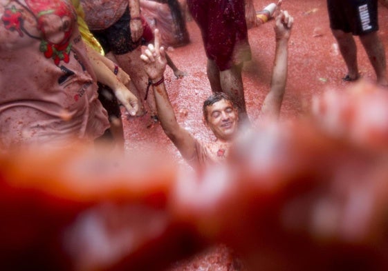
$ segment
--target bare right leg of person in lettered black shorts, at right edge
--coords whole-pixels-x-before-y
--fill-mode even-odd
[[[371,32],[360,36],[362,46],[367,51],[369,61],[376,72],[377,83],[380,86],[388,86],[387,64],[385,62],[384,45],[378,38],[377,32]]]

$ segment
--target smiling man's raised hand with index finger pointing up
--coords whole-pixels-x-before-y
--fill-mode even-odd
[[[144,69],[149,79],[160,79],[165,72],[167,59],[165,54],[165,48],[160,47],[160,33],[156,29],[154,32],[155,39],[154,44],[149,43],[144,53],[140,55],[144,63]]]

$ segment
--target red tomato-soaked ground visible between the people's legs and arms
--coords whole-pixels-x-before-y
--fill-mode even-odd
[[[270,3],[268,0],[253,0],[256,10],[261,10],[268,3]],[[335,46],[335,39],[329,28],[326,1],[284,0],[281,8],[288,10],[295,23],[289,41],[288,81],[280,118],[294,119],[310,111],[313,95],[321,94],[330,88],[342,91],[351,86],[351,83],[342,81],[347,69],[336,49],[338,47]],[[259,117],[259,109],[270,88],[275,53],[274,23],[275,21],[271,19],[259,27],[248,30],[252,60],[245,63],[242,76],[248,115],[253,123]],[[380,3],[379,25],[379,37],[387,48],[388,9]],[[206,75],[206,56],[201,33],[194,21],[187,21],[187,29],[190,32],[191,43],[168,50],[176,66],[187,75],[183,79],[176,79],[172,70],[167,68],[165,72],[167,92],[178,122],[198,139],[214,141],[212,132],[202,121],[202,103],[211,94],[211,90]],[[355,41],[358,46],[358,63],[362,77],[367,81],[375,81],[376,75],[367,54],[357,37]],[[129,120],[125,116],[123,118],[128,152],[156,148],[182,161],[160,125],[152,123],[148,114]]]

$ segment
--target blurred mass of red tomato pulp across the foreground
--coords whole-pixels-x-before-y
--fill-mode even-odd
[[[326,92],[201,174],[104,148],[4,155],[2,270],[165,270],[216,244],[227,258],[191,270],[385,270],[388,127],[362,115],[386,103],[367,83]]]

